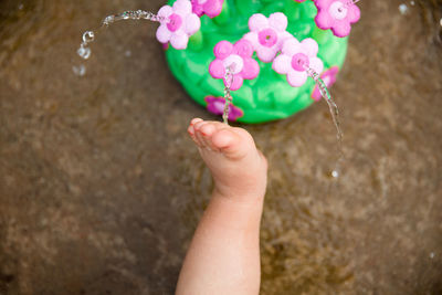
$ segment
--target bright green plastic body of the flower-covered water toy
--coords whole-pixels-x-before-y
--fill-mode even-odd
[[[173,2],[169,0],[169,4]],[[274,12],[283,12],[287,17],[287,31],[298,41],[306,38],[317,41],[324,71],[335,65],[341,67],[347,52],[347,38],[337,38],[330,30],[316,27],[314,18],[317,10],[313,1],[225,0],[220,15],[213,19],[201,17],[201,29],[190,38],[187,50],[169,46],[166,51],[172,74],[190,97],[206,107],[206,97],[223,96],[223,82],[209,74],[209,64],[214,60],[214,45],[221,40],[232,43],[239,41],[249,32],[248,21],[252,14],[269,17]],[[232,92],[233,105],[243,112],[238,122],[256,124],[282,119],[314,103],[312,93],[315,83],[312,78],[302,87],[292,87],[285,75],[272,70],[272,63],[259,61],[256,53],[254,57],[261,67],[260,75],[255,80],[244,80],[243,86]]]

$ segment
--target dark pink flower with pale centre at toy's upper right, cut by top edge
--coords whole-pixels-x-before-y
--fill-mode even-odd
[[[351,31],[351,23],[360,18],[359,8],[351,0],[315,0],[318,13],[315,18],[317,27],[332,29],[337,36],[346,36]]]

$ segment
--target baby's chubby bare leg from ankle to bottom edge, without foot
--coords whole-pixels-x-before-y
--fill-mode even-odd
[[[188,250],[177,295],[256,295],[264,196],[238,202],[214,192]]]

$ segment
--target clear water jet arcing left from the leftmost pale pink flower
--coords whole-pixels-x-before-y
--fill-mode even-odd
[[[90,43],[94,42],[96,35],[99,34],[102,30],[109,27],[109,24],[123,20],[149,20],[155,22],[169,21],[166,18],[144,10],[129,10],[119,14],[108,15],[103,20],[102,25],[97,30],[86,31],[83,33],[83,42],[80,44],[80,48],[76,51],[80,57],[87,60],[91,56]]]

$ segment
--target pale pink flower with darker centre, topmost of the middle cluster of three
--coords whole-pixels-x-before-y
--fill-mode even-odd
[[[287,17],[282,12],[275,12],[267,18],[261,13],[253,14],[249,19],[250,33],[244,35],[256,51],[257,57],[270,63],[285,40],[292,36],[287,31]]]

